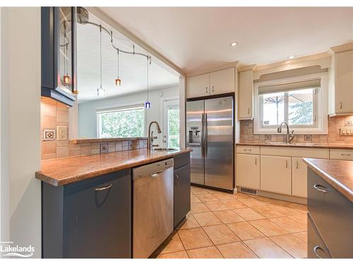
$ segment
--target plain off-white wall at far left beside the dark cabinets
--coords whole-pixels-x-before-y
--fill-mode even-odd
[[[25,23],[24,23],[25,22]],[[1,240],[41,257],[40,7],[1,8]]]

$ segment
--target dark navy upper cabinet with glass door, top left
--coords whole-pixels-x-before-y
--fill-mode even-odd
[[[76,8],[42,7],[42,96],[76,100]]]

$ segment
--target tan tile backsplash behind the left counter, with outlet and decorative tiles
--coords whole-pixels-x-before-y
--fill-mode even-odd
[[[42,98],[40,119],[42,160],[100,153],[100,144],[104,143],[104,140],[101,143],[73,143],[68,140],[68,107],[66,105],[50,98]],[[61,130],[66,129],[66,140],[58,140],[58,127]],[[54,139],[44,140],[44,131],[54,131]],[[62,134],[60,138],[65,139]],[[125,151],[146,148],[147,140],[109,141],[107,145],[108,152]]]

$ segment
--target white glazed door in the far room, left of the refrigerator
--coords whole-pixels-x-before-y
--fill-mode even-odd
[[[179,148],[179,100],[163,101],[163,143],[164,148]]]

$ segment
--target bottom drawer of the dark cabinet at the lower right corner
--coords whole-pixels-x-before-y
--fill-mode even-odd
[[[309,259],[330,259],[325,243],[323,242],[317,228],[308,214],[308,258]]]

